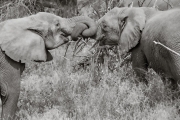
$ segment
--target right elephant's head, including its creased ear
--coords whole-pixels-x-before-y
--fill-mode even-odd
[[[98,20],[96,38],[100,45],[119,45],[122,53],[135,47],[145,27],[147,17],[157,10],[155,8],[114,8]]]

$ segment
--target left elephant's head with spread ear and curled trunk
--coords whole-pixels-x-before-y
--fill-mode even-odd
[[[0,48],[17,62],[48,61],[52,56],[47,50],[67,43],[68,35],[88,37],[93,32],[96,26],[90,18],[65,19],[40,12],[0,23]]]

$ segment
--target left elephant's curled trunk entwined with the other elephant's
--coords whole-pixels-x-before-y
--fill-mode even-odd
[[[97,26],[93,19],[85,16],[77,16],[67,19],[67,24],[70,25],[68,32],[71,37],[76,40],[78,36],[92,37],[97,32]]]

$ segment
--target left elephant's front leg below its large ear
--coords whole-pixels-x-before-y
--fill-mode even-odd
[[[2,120],[14,120],[20,93],[20,76],[25,64],[15,62],[0,52],[0,90]]]

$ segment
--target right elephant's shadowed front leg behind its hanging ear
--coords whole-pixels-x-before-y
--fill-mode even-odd
[[[132,51],[132,68],[139,81],[148,85],[148,81],[145,78],[146,72],[148,71],[148,62],[144,53],[138,49]]]

